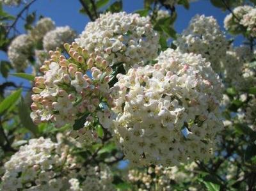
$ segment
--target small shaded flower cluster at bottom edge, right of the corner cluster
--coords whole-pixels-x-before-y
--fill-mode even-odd
[[[113,175],[107,165],[100,164],[96,167],[88,167],[86,169],[86,178],[80,181],[76,178],[69,180],[71,185],[70,191],[114,191],[116,190],[112,184]]]

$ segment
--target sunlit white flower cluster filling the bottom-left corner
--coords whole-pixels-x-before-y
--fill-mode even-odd
[[[51,139],[30,139],[4,164],[3,190],[65,190],[77,167],[69,153],[68,146]]]

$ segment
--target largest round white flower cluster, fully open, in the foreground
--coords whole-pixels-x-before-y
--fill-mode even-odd
[[[178,165],[211,157],[221,129],[221,82],[196,54],[168,49],[154,66],[118,75],[115,135],[131,164]]]

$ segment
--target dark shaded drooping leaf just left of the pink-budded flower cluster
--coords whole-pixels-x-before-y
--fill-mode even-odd
[[[34,135],[38,134],[38,127],[33,123],[32,119],[30,118],[30,109],[28,104],[24,102],[24,99],[21,98],[20,103],[18,105],[19,117],[20,122],[24,126],[24,128],[31,131]]]

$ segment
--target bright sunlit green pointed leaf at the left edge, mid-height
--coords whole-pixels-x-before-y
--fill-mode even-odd
[[[17,100],[19,100],[22,89],[14,91],[10,96],[5,98],[3,102],[0,103],[0,115],[2,115],[6,110],[15,105]]]

